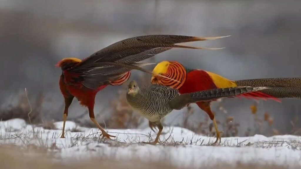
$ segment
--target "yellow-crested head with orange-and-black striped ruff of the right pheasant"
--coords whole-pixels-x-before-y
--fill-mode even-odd
[[[176,81],[153,74],[151,77],[151,84],[160,84],[179,89],[186,80],[186,69],[177,61],[162,61],[157,64],[157,66],[153,69],[153,72],[155,74],[164,75],[168,78],[175,79]]]

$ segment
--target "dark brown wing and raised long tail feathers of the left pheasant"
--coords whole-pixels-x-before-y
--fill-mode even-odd
[[[181,35],[146,35],[128,38],[95,52],[82,60],[77,66],[69,69],[69,72],[76,72],[83,77],[83,84],[86,87],[97,88],[99,84],[109,79],[108,76],[118,76],[131,69],[151,73],[151,71],[133,65],[133,63],[153,57],[171,48],[220,49],[175,45],[175,43],[213,40],[224,37],[227,36],[203,38]],[[116,63],[123,64],[117,65]]]

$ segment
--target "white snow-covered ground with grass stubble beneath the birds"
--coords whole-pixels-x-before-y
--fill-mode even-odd
[[[214,137],[198,135],[185,128],[164,127],[164,134],[160,137],[162,145],[153,146],[141,143],[149,141],[150,135],[153,139],[156,137],[150,128],[108,129],[108,133],[117,138],[104,140],[99,137],[98,129],[83,128],[67,121],[67,138],[61,139],[62,122],[54,124],[57,130],[32,127],[22,119],[1,121],[0,144],[47,147],[49,151],[56,152],[57,157],[67,161],[102,156],[144,161],[163,159],[181,167],[210,166],[219,162],[233,165],[241,162],[301,166],[301,137],[293,135],[224,137],[221,144],[210,146]]]

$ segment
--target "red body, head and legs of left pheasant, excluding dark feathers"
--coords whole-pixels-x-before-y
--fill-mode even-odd
[[[82,78],[77,72],[69,71],[70,68],[78,66],[79,63],[82,63],[81,60],[76,58],[66,58],[57,63],[57,66],[62,68],[62,75],[60,77],[59,86],[65,100],[65,109],[63,115],[64,123],[61,138],[65,138],[64,131],[66,119],[68,116],[68,109],[74,97],[77,98],[82,106],[88,107],[89,117],[93,121],[93,123],[95,123],[96,126],[101,130],[103,137],[115,137],[107,134],[107,132],[104,131],[104,129],[95,120],[95,97],[99,91],[107,87],[107,85],[109,84],[118,86],[126,82],[131,75],[131,71],[120,75],[120,77],[114,81],[107,81],[105,84],[98,85],[97,88],[88,88],[84,85],[84,78]],[[94,78],[97,81],[97,77]]]

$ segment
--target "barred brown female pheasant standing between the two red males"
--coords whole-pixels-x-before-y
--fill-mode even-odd
[[[151,84],[139,88],[136,81],[131,81],[128,85],[126,100],[133,109],[138,110],[151,123],[157,125],[159,132],[154,142],[150,143],[155,145],[158,143],[159,136],[163,130],[161,119],[172,112],[172,110],[180,110],[189,103],[210,101],[264,89],[269,88],[239,86],[179,94],[177,89],[159,84]]]

